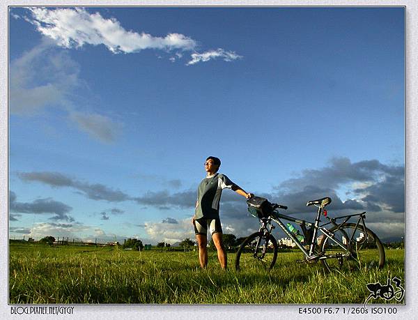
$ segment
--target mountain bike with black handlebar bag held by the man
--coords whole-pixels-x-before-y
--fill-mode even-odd
[[[366,212],[341,215],[330,218],[325,206],[331,203],[330,197],[307,202],[307,206],[316,206],[314,222],[300,220],[279,213],[279,209],[287,209],[281,204],[271,204],[263,197],[251,197],[247,200],[248,210],[260,221],[260,228],[248,236],[240,245],[235,258],[235,269],[249,270],[262,268],[270,271],[277,259],[278,245],[272,235],[276,222],[284,233],[299,248],[304,259],[297,262],[311,264],[320,261],[325,271],[371,271],[385,265],[385,250],[378,236],[366,228],[364,220]],[[326,223],[320,224],[324,216]],[[348,222],[355,219],[355,222]],[[300,226],[299,230],[291,231],[282,220],[290,221]],[[293,225],[293,224],[292,224]],[[303,243],[303,244],[302,244]]]

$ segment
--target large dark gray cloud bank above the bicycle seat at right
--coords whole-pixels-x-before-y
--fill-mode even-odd
[[[274,197],[290,210],[306,212],[304,201],[331,197],[334,210],[392,211],[403,213],[405,199],[405,167],[383,165],[378,160],[351,162],[333,158],[321,169],[304,170],[275,187]],[[347,188],[349,199],[340,199],[339,188]],[[293,209],[291,209],[293,208]]]

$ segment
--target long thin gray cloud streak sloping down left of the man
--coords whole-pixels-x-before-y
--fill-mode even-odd
[[[17,176],[22,181],[36,181],[52,187],[74,188],[88,199],[121,202],[130,199],[120,190],[114,190],[100,183],[87,183],[70,178],[59,172],[20,172]]]

